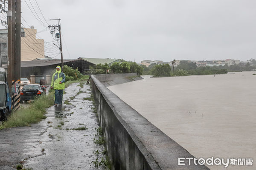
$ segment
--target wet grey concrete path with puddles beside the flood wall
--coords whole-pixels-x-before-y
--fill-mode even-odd
[[[23,161],[34,170],[93,170],[96,150],[102,146],[93,142],[99,127],[90,87],[74,83],[65,89],[63,106],[47,109],[47,118],[30,127],[15,127],[0,131],[0,169],[13,170]],[[71,97],[71,99],[70,99]],[[73,130],[86,127],[86,130]],[[102,168],[98,168],[102,169]]]

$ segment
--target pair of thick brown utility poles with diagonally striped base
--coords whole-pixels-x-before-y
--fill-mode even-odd
[[[8,22],[8,72],[9,88],[15,89],[12,95],[12,108],[20,107],[20,0],[9,0]]]

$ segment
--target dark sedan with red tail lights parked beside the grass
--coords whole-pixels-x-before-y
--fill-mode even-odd
[[[46,90],[42,85],[30,84],[24,85],[23,89],[20,91],[20,100],[28,101],[34,100],[36,96],[45,95]]]

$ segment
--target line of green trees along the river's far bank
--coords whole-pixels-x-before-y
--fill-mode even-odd
[[[219,66],[205,66],[198,67],[195,62],[187,60],[180,61],[180,65],[172,67],[169,64],[151,64],[148,67],[145,65],[138,65],[136,62],[125,61],[119,59],[122,63],[113,63],[109,66],[107,63],[90,66],[90,69],[95,69],[96,74],[106,74],[106,70],[111,70],[113,73],[137,73],[138,75],[152,75],[155,77],[169,77],[169,76],[188,76],[188,75],[207,75],[207,74],[227,74],[228,72],[252,71],[256,69],[256,60],[250,59],[253,63],[246,65],[219,65]],[[107,73],[108,74],[108,73]]]

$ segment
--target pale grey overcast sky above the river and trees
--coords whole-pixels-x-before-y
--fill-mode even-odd
[[[35,0],[22,0],[23,18],[38,32],[44,31],[38,35],[46,42],[52,41],[49,29],[35,19],[26,2],[33,11],[32,3],[47,25]],[[37,3],[49,24],[56,23],[49,19],[61,18],[67,45],[66,48],[63,43],[64,59],[109,57],[140,62],[256,58],[256,0],[37,0]],[[46,55],[56,54],[52,47],[46,47],[49,47]]]

